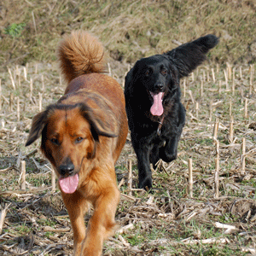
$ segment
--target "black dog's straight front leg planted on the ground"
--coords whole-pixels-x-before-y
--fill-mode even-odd
[[[149,146],[147,143],[132,140],[133,148],[137,154],[137,167],[139,177],[139,189],[152,188],[152,173],[149,164]]]

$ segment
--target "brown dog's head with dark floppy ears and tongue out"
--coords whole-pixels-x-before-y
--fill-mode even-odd
[[[40,136],[42,152],[55,166],[61,189],[73,193],[83,161],[95,155],[99,136],[115,137],[113,118],[108,111],[84,103],[54,104],[32,119],[26,146]]]

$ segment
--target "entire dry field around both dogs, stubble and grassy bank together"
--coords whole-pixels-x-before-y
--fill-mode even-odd
[[[67,32],[79,27],[89,29],[90,22],[94,21],[99,31],[96,32],[96,26],[92,26],[91,31],[102,38],[110,55],[108,74],[122,86],[125,73],[137,58],[164,51],[167,47],[172,49],[177,41],[184,43],[207,32],[221,36],[221,43],[208,55],[208,61],[181,82],[187,119],[178,157],[170,164],[160,163],[154,170],[154,189],[150,193],[137,189],[137,160],[130,135],[127,137],[116,166],[121,192],[116,214],[120,230],[105,242],[103,255],[255,255],[256,75],[253,63],[256,54],[253,52],[255,27],[252,24],[256,20],[256,6],[253,2],[244,1],[239,7],[235,1],[228,1],[226,5],[223,1],[210,1],[207,6],[195,1],[192,10],[193,1],[184,5],[182,1],[174,1],[171,9],[167,9],[168,1],[142,1],[141,5],[140,1],[131,4],[128,1],[122,6],[118,1],[113,1],[112,5],[106,1],[96,11],[101,1],[94,1],[90,6],[88,1],[82,1],[84,9],[79,6],[73,12],[71,7],[75,6],[75,1],[59,2],[55,2],[49,12],[50,5],[44,1],[41,5],[26,1],[16,9],[10,8],[9,1],[3,1],[2,9],[9,9],[9,16],[6,15],[6,19],[11,17],[9,23],[24,23],[29,29],[23,31],[21,26],[18,29],[20,38],[12,37],[12,30],[5,30],[9,34],[4,35],[1,31],[0,254],[72,255],[73,232],[60,191],[58,188],[52,190],[51,166],[38,150],[39,140],[27,148],[25,142],[32,117],[57,101],[65,90],[55,61],[61,30],[64,26]],[[23,4],[26,9],[19,16]],[[37,34],[34,34],[32,20],[26,20],[27,13],[32,17],[32,7]],[[90,15],[83,20],[85,7],[90,9]],[[172,16],[177,31],[166,29],[164,18],[160,20],[160,27],[155,27],[154,22],[145,22],[146,15],[141,16],[144,11],[156,17],[157,10],[166,15],[165,8],[169,16],[177,10],[179,16]],[[239,12],[240,8],[243,11]],[[192,15],[183,12],[184,9],[189,9]],[[214,12],[208,15],[209,23],[203,26],[208,9]],[[40,18],[38,10],[44,10]],[[54,11],[57,11],[55,15]],[[225,26],[214,20],[217,13],[225,17]],[[15,14],[16,21],[10,14]],[[47,14],[49,20],[59,22],[51,32],[46,24]],[[76,19],[68,23],[73,15]],[[131,15],[137,15],[136,26]],[[197,20],[193,15],[198,15]],[[117,24],[116,34],[111,30],[113,20],[108,19],[111,16]],[[7,28],[3,12],[1,17],[1,27]],[[150,18],[148,20],[152,20]],[[230,25],[231,18],[239,21],[235,28]],[[244,23],[242,18],[246,20]],[[125,28],[121,26],[124,19],[129,20]],[[133,25],[135,29],[129,30]],[[148,35],[143,41],[150,26],[154,27],[152,36]],[[230,41],[225,41],[224,29],[230,33]],[[246,30],[250,31],[247,38]],[[131,39],[126,31],[130,31]],[[176,41],[168,44],[161,40],[160,34],[166,38],[170,32]],[[111,44],[109,38],[115,44]],[[11,49],[11,46],[15,47]],[[31,49],[30,54],[26,54],[27,49]],[[129,49],[129,53],[125,49]],[[26,189],[21,189],[22,161],[26,161]],[[191,161],[192,192],[189,189]],[[128,186],[130,169],[132,189]],[[84,218],[86,223],[90,214]]]

